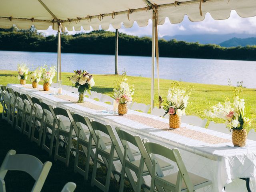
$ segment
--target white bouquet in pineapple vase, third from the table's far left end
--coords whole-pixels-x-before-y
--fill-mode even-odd
[[[52,84],[52,79],[56,74],[56,67],[52,66],[48,70],[48,66],[44,65],[41,67],[41,80],[44,82],[44,91],[50,90],[50,84]]]

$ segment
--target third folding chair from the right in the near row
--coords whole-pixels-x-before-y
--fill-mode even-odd
[[[116,170],[113,162],[120,160],[119,156],[122,155],[122,152],[120,150],[116,151],[116,148],[115,148],[116,144],[113,143],[113,140],[110,148],[107,148],[102,140],[102,134],[106,134],[107,136],[110,137],[110,134],[113,133],[112,127],[110,125],[104,125],[104,124],[101,124],[100,122],[91,120],[91,126],[97,137],[91,185],[92,186],[96,185],[98,188],[100,188],[104,192],[108,192],[111,173],[113,173],[114,176],[119,175],[120,177],[121,175],[121,173]],[[112,139],[114,138],[114,136],[110,138]],[[138,151],[133,151],[132,153],[139,154]],[[98,161],[99,155],[101,156],[102,161]],[[96,180],[97,163],[104,164],[107,168],[107,177],[106,177],[105,185],[100,183],[98,180]]]

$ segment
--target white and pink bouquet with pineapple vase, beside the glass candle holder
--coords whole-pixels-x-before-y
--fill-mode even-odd
[[[122,78],[117,80],[113,89],[114,93],[112,98],[118,103],[118,114],[127,114],[127,103],[132,102],[132,96],[134,95],[134,85],[129,86],[126,71],[122,74]]]

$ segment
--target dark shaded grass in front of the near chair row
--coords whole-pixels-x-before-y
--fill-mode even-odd
[[[2,113],[0,113],[2,116]],[[36,156],[43,163],[46,161],[52,162],[52,167],[47,176],[47,179],[42,188],[42,192],[57,192],[61,191],[63,186],[67,182],[76,183],[76,192],[99,192],[101,191],[97,187],[90,185],[92,175],[92,165],[90,165],[90,173],[88,181],[84,180],[84,177],[78,173],[74,173],[74,157],[70,154],[69,167],[66,167],[63,162],[54,161],[52,157],[48,156],[48,153],[41,149],[36,143],[30,142],[27,136],[20,133],[18,130],[10,127],[6,121],[0,120],[0,165],[4,160],[6,153],[10,150],[16,150],[17,154],[30,154]],[[64,148],[59,148],[60,155],[65,154]],[[55,150],[55,149],[54,149]],[[53,150],[53,153],[54,153]],[[85,158],[79,156],[79,165],[84,166]],[[97,179],[104,183],[106,179],[106,168],[102,167],[97,171]],[[34,185],[33,178],[25,172],[8,171],[4,178],[6,182],[6,191],[30,191]],[[118,192],[118,181],[112,179],[110,183],[111,192]],[[130,184],[126,181],[126,192],[132,191]]]

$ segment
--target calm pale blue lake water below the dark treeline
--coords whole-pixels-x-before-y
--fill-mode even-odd
[[[57,53],[0,51],[0,70],[16,70],[18,63],[30,70],[37,66],[55,65]],[[256,88],[256,62],[236,60],[160,58],[160,78],[186,82],[227,85],[243,81],[244,86]],[[118,56],[119,73],[125,68],[131,76],[151,76],[151,57]],[[62,72],[87,70],[92,74],[114,74],[114,56],[99,54],[61,54]]]

